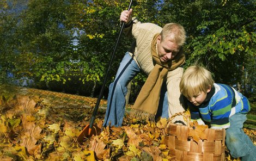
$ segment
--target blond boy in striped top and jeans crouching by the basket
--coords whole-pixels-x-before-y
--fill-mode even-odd
[[[225,128],[225,144],[231,156],[256,160],[256,146],[242,129],[251,108],[245,96],[228,85],[214,83],[210,71],[197,65],[188,67],[182,75],[180,91],[188,100],[191,120]]]

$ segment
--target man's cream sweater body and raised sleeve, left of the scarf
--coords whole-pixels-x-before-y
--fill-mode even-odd
[[[126,36],[136,39],[136,47],[134,59],[139,65],[140,69],[147,75],[154,67],[151,55],[151,42],[154,35],[160,33],[162,28],[153,23],[141,23],[136,18],[132,18],[133,24],[124,28]],[[132,53],[130,53],[132,54]]]

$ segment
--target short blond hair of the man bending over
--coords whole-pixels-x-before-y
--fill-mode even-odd
[[[178,23],[167,23],[160,33],[161,41],[169,37],[171,41],[182,46],[186,41],[186,32],[183,26]]]

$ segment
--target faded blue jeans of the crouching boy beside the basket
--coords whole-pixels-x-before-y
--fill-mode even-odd
[[[232,157],[253,161],[256,160],[256,146],[242,129],[246,119],[246,114],[240,113],[229,117],[230,127],[226,129],[225,143]]]

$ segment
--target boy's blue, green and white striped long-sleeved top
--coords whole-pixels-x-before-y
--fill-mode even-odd
[[[212,93],[211,93],[212,92]],[[234,88],[225,84],[214,83],[214,87],[200,106],[188,101],[191,120],[200,119],[209,122],[211,128],[228,128],[229,117],[236,113],[248,113],[251,109],[248,99]]]

